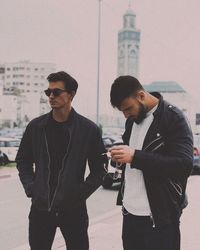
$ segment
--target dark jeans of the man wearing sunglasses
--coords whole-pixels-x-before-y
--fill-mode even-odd
[[[50,250],[59,227],[67,250],[88,250],[88,216],[86,206],[73,212],[46,212],[31,207],[29,244],[31,250]]]

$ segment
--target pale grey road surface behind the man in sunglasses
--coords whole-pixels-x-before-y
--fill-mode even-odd
[[[0,178],[0,250],[11,250],[27,243],[30,200],[25,196],[17,172],[12,169]],[[0,170],[1,175],[2,170]],[[88,199],[88,213],[93,220],[116,208],[116,188],[99,188]]]

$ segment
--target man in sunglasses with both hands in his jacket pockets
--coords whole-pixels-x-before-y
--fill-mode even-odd
[[[101,185],[105,148],[99,128],[71,107],[76,80],[65,72],[47,80],[52,110],[28,124],[16,157],[20,180],[32,198],[29,243],[31,250],[50,250],[60,227],[67,249],[88,250],[86,199]]]

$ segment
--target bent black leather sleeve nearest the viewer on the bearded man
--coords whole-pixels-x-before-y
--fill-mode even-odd
[[[171,178],[188,177],[193,167],[193,137],[185,117],[178,117],[165,140],[164,153],[136,150],[131,163],[149,175]]]

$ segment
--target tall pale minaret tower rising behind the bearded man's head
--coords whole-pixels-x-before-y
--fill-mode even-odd
[[[118,76],[138,78],[140,31],[136,29],[136,14],[129,8],[123,16],[123,28],[118,33]]]

